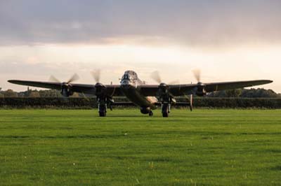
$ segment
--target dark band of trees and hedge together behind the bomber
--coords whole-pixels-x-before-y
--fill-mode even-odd
[[[184,96],[177,97],[176,100],[178,102],[188,102]],[[128,103],[129,100],[126,97],[117,97],[115,102]],[[205,108],[281,108],[281,95],[273,90],[264,89],[227,90],[213,92],[204,97],[195,96],[193,105]],[[126,104],[126,106],[130,106],[130,104]],[[70,98],[65,98],[58,90],[0,91],[0,108],[96,107],[96,97],[89,97],[84,94],[75,93]]]

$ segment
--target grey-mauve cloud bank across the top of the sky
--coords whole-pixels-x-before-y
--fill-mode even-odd
[[[277,0],[0,0],[0,44],[279,43],[280,7]]]

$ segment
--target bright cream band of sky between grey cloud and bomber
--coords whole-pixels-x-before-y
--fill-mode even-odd
[[[6,56],[1,55],[3,52],[0,48],[0,73],[6,78],[36,76],[36,80],[47,80],[52,74],[65,80],[76,72],[81,75],[80,82],[91,83],[93,79],[89,72],[101,69],[105,83],[119,83],[118,78],[122,73],[131,69],[149,83],[154,83],[150,73],[155,70],[160,71],[166,81],[190,83],[195,81],[192,69],[199,68],[202,69],[202,80],[205,82],[270,78],[275,80],[275,84],[266,87],[281,90],[279,69],[276,68],[280,66],[280,46],[244,47],[216,52],[181,46],[161,48],[142,45],[44,45],[10,48],[4,48]],[[21,52],[13,54],[15,50]]]

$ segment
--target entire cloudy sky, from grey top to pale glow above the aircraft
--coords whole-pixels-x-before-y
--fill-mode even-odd
[[[9,79],[119,84],[124,71],[156,84],[270,79],[281,92],[281,1],[0,0],[0,87]]]

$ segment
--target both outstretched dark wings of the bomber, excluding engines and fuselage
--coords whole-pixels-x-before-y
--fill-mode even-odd
[[[17,85],[27,85],[32,87],[41,87],[47,89],[61,90],[61,83],[53,82],[41,82],[41,81],[28,81],[28,80],[8,80],[9,83]],[[219,90],[233,90],[243,87],[253,87],[256,85],[265,85],[273,83],[272,80],[249,80],[249,81],[233,81],[233,82],[221,82],[221,83],[204,83],[204,90],[206,92],[214,92]],[[87,84],[70,84],[73,92],[96,94],[95,85]],[[185,94],[194,94],[197,84],[182,84],[182,85],[169,85],[169,92],[174,96],[183,96]],[[105,85],[107,95],[110,96],[124,96],[120,89],[120,85]],[[139,85],[143,96],[157,96],[159,85]]]

